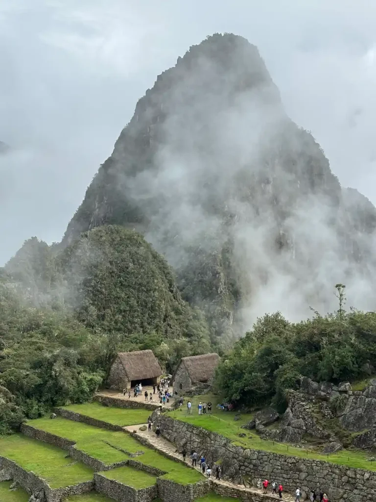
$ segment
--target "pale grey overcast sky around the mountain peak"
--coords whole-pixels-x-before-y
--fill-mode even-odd
[[[137,99],[214,32],[258,46],[288,114],[376,204],[375,26],[369,0],[1,0],[0,265],[61,239]]]

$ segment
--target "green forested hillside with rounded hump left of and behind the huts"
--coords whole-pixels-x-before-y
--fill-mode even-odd
[[[60,251],[30,239],[0,275],[0,433],[87,401],[116,351],[145,348],[168,371],[210,349],[203,315],[150,244],[115,226]]]

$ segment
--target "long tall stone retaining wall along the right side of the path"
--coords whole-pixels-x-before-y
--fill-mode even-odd
[[[309,493],[311,488],[323,489],[334,502],[366,502],[376,499],[376,472],[349,468],[321,460],[279,455],[262,450],[235,446],[220,434],[207,431],[166,415],[156,417],[162,436],[183,445],[187,451],[196,449],[209,464],[222,461],[223,476],[237,483],[257,486],[261,479],[282,482],[293,493],[297,486]]]

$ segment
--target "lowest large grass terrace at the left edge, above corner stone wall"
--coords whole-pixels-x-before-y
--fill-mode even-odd
[[[93,479],[93,470],[72,458],[65,458],[66,451],[21,434],[1,438],[0,455],[15,461],[27,471],[34,471],[52,488]]]

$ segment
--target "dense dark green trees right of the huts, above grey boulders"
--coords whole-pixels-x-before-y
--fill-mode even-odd
[[[251,406],[272,399],[282,411],[287,391],[298,388],[300,376],[351,382],[375,360],[376,312],[345,312],[341,302],[337,312],[316,313],[299,323],[280,312],[259,318],[223,358],[217,384],[235,403]]]

